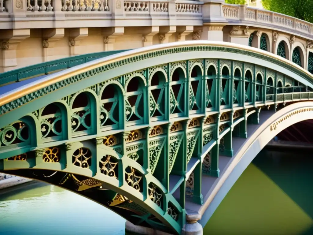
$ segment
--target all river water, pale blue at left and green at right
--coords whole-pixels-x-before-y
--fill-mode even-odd
[[[204,234],[313,234],[309,152],[263,150]],[[125,234],[125,220],[72,192],[33,182],[0,194],[0,234]]]

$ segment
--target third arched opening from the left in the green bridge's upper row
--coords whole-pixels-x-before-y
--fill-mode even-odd
[[[72,136],[95,133],[97,130],[97,98],[93,91],[76,93],[70,101]]]

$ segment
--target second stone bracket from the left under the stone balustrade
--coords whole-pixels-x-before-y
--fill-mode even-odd
[[[55,55],[55,43],[64,37],[64,28],[42,29],[42,46],[44,61],[49,61],[49,57]]]

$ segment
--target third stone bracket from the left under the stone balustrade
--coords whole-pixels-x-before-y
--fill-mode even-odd
[[[88,28],[76,28],[69,31],[69,55],[84,54],[85,51],[80,47],[82,39],[88,36]]]

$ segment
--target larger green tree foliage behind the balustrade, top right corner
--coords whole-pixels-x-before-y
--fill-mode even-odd
[[[262,0],[262,5],[269,11],[313,23],[313,0]]]

